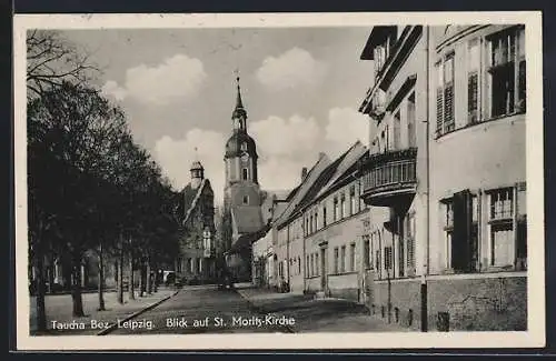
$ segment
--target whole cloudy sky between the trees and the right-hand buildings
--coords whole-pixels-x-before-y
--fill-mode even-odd
[[[373,64],[359,60],[370,28],[71,30],[102,68],[98,86],[126,111],[136,140],[176,189],[202,162],[217,201],[239,69],[262,189],[297,185],[319,152],[337,157],[367,120],[357,112]]]

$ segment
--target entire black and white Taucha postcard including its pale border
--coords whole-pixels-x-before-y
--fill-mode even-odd
[[[29,348],[543,345],[539,13],[14,24]]]

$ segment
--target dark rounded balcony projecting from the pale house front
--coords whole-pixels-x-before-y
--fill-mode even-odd
[[[417,148],[370,154],[361,166],[365,203],[403,207],[417,188]]]

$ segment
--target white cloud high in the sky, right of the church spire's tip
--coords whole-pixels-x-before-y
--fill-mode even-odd
[[[324,62],[312,58],[307,50],[292,48],[277,58],[266,58],[257,70],[257,79],[271,90],[285,90],[316,84],[325,73]]]

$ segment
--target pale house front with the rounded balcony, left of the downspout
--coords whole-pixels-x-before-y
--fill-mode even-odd
[[[374,62],[360,111],[369,116],[369,157],[361,168],[370,205],[366,285],[374,314],[418,327],[428,204],[430,41],[424,27],[375,27],[361,53]]]

